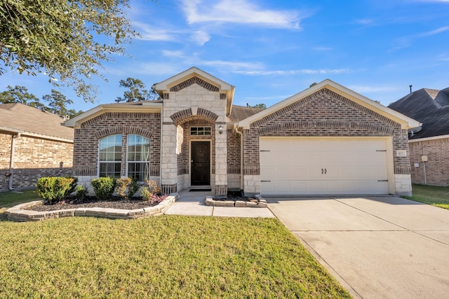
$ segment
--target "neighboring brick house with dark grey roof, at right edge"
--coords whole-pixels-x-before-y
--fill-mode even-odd
[[[409,130],[413,183],[449,186],[449,88],[423,88],[389,105],[422,127]]]

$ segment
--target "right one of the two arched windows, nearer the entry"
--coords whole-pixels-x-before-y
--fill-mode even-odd
[[[149,140],[140,135],[128,135],[128,176],[149,179]]]

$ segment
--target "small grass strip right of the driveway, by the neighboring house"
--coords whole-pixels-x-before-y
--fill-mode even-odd
[[[413,184],[413,197],[404,196],[408,200],[431,204],[443,209],[449,209],[449,187],[438,187]]]

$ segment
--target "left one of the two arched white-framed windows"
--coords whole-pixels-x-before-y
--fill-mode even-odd
[[[120,177],[121,134],[100,139],[99,175]]]

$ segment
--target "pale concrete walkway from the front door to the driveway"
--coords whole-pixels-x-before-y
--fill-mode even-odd
[[[189,192],[183,190],[179,199],[169,207],[167,215],[187,216],[222,216],[222,217],[274,217],[272,211],[267,208],[257,207],[209,207],[204,204],[204,197],[212,195],[211,192]]]

